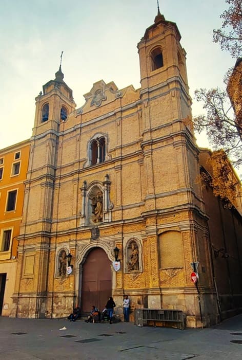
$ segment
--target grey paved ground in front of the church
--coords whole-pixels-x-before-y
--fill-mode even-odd
[[[0,317],[0,359],[241,360],[242,315],[209,329]],[[66,330],[59,330],[63,327]]]

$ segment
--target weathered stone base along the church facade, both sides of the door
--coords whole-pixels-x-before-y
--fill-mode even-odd
[[[137,294],[129,291],[131,301],[130,321],[134,321],[135,308],[172,309],[184,313],[186,328],[210,327],[220,321],[217,300],[214,293],[201,294],[201,314],[196,291],[187,289],[169,289],[147,293],[144,289]],[[122,291],[123,293],[123,291]],[[114,295],[116,302],[115,316],[121,321],[123,315],[123,295]],[[140,303],[143,302],[143,303]],[[42,294],[16,294],[13,295],[13,306],[10,317],[19,318],[65,318],[72,312],[75,305],[75,295],[72,292],[56,292]],[[206,310],[205,310],[206,309]],[[100,309],[102,311],[103,309]],[[242,312],[242,308],[223,311],[221,318],[225,319]],[[201,315],[202,320],[201,321]]]

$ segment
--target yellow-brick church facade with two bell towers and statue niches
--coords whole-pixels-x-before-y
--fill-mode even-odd
[[[111,295],[120,317],[128,295],[132,310],[182,310],[188,327],[209,326],[230,310],[227,289],[223,308],[214,285],[221,239],[211,232],[200,150],[185,121],[191,98],[176,24],[158,11],[138,53],[139,89],[100,80],[76,109],[60,67],[36,97],[11,316],[101,310]],[[230,221],[242,255],[241,202]],[[233,266],[241,275],[241,261]]]

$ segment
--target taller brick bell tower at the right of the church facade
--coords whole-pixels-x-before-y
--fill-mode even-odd
[[[140,163],[144,164],[146,189],[142,217],[146,220],[147,243],[152,249],[157,246],[157,254],[162,254],[159,251],[162,251],[160,239],[164,239],[163,234],[168,234],[174,248],[174,239],[178,235],[183,239],[182,248],[186,248],[191,259],[196,259],[191,239],[198,238],[200,228],[207,231],[207,218],[200,185],[196,181],[199,150],[191,122],[186,52],[180,39],[176,24],[167,21],[158,7],[154,23],[146,29],[137,45],[141,83],[140,146],[143,150]],[[202,237],[200,233],[199,237]],[[172,287],[177,286],[166,278],[167,268],[172,267],[174,261],[171,259],[166,268],[163,255],[158,258],[154,253],[152,264],[156,270],[149,284],[148,308],[167,309],[169,296],[174,294]],[[183,257],[180,268],[185,268],[187,262]],[[185,279],[184,287],[189,287],[188,269]]]

